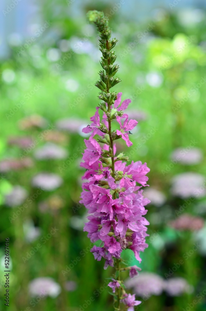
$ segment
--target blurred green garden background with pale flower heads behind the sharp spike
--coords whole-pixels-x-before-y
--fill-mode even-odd
[[[141,264],[124,252],[142,268],[127,286],[142,311],[206,310],[206,10],[184,0],[1,2],[0,310],[113,310],[113,270],[90,253],[78,203],[81,129],[99,103],[91,9],[109,16],[119,39],[115,90],[138,120],[133,146],[117,148],[151,169],[149,247]]]

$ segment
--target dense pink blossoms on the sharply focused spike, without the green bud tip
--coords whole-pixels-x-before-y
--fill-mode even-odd
[[[130,100],[124,100],[121,104],[121,95],[111,106],[112,120],[120,124],[120,129],[113,132],[116,138],[125,140],[127,146],[130,131],[137,125],[136,120],[130,119],[122,110],[128,107]],[[94,246],[91,252],[98,261],[103,257],[106,262],[104,268],[113,267],[114,258],[120,258],[123,249],[131,249],[136,259],[140,262],[140,251],[148,246],[145,243],[148,221],[144,218],[147,213],[145,205],[150,201],[142,195],[142,186],[147,186],[150,171],[147,164],[141,161],[132,161],[130,165],[121,160],[121,155],[114,157],[114,172],[112,172],[111,146],[109,142],[103,147],[94,139],[97,134],[103,140],[108,135],[107,114],[103,112],[103,120],[100,121],[99,107],[90,118],[92,123],[83,132],[92,132],[89,140],[85,140],[86,149],[83,154],[84,162],[81,167],[86,169],[82,180],[81,201],[88,209],[89,221],[85,224],[84,231],[88,232],[91,242],[101,240],[100,246]],[[121,122],[124,119],[124,122]],[[122,124],[123,123],[123,124]],[[106,138],[105,138],[106,140]],[[114,155],[116,147],[114,144]],[[137,185],[137,183],[139,185]]]

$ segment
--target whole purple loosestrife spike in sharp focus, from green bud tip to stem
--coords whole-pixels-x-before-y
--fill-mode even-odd
[[[101,65],[103,71],[99,72],[100,80],[96,86],[100,89],[99,99],[101,104],[96,107],[96,112],[90,118],[92,123],[83,128],[84,133],[90,133],[88,140],[84,140],[86,149],[83,153],[81,167],[86,169],[82,180],[82,193],[80,203],[88,209],[88,222],[84,231],[88,232],[91,242],[98,246],[91,248],[94,258],[100,261],[105,259],[104,269],[115,266],[116,274],[109,287],[115,296],[115,310],[120,310],[120,303],[124,303],[129,311],[140,304],[135,300],[135,295],[125,293],[121,271],[128,271],[130,277],[137,276],[138,267],[121,268],[121,253],[131,249],[136,259],[140,262],[140,252],[148,246],[145,238],[146,225],[149,222],[144,218],[147,210],[145,205],[150,201],[143,197],[142,187],[147,186],[150,171],[147,164],[129,160],[123,153],[116,155],[115,141],[123,139],[129,147],[131,130],[137,121],[130,119],[123,112],[131,100],[126,99],[121,103],[122,93],[116,94],[110,88],[120,82],[114,77],[118,66],[114,64],[116,55],[112,51],[117,40],[112,39],[108,20],[102,12],[90,11],[89,21],[94,23],[100,35],[100,50],[103,53]],[[125,119],[121,123],[121,119]],[[112,124],[119,129],[112,129]]]

